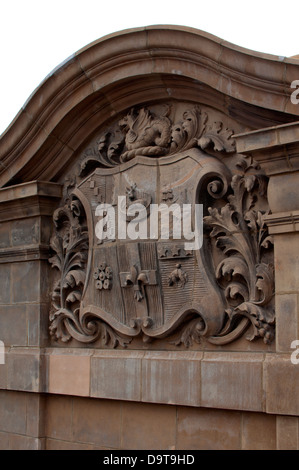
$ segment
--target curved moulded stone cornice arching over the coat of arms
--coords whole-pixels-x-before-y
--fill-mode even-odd
[[[2,135],[0,186],[55,180],[107,119],[141,100],[187,99],[190,86],[198,99],[210,90],[211,103],[228,114],[245,103],[261,115],[273,112],[272,122],[283,122],[282,114],[289,122],[299,114],[290,100],[298,70],[296,59],[249,51],[192,28],[150,26],[106,36],[46,77]]]

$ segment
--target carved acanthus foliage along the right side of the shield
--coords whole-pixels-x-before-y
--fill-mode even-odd
[[[227,300],[227,322],[223,330],[208,338],[215,344],[226,344],[239,337],[251,324],[253,340],[262,337],[266,344],[274,338],[274,268],[269,262],[272,238],[264,217],[256,208],[257,196],[265,192],[265,177],[248,172],[234,175],[232,194],[221,209],[209,208],[205,224],[210,237],[224,257],[215,269],[215,276]]]

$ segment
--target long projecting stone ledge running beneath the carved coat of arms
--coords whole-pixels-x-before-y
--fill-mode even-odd
[[[11,348],[0,387],[298,416],[299,364],[291,363],[292,352]]]

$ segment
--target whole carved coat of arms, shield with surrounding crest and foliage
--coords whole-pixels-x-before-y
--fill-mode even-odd
[[[49,260],[56,340],[125,347],[135,338],[166,339],[190,347],[225,345],[244,334],[266,344],[274,338],[267,179],[235,152],[233,131],[222,121],[197,105],[171,109],[130,110],[85,150],[76,178],[65,185]],[[177,239],[181,215],[172,219],[167,241],[162,231],[154,239],[112,233],[99,241],[99,203],[127,225],[134,222],[128,209],[142,204],[145,228],[152,203],[203,204],[203,246],[188,249],[184,237]]]

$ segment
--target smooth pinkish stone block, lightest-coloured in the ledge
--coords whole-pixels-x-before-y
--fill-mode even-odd
[[[49,356],[48,392],[89,396],[90,355],[85,351],[67,354],[58,351]]]

